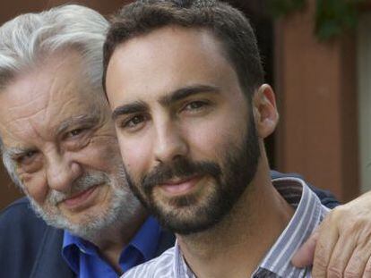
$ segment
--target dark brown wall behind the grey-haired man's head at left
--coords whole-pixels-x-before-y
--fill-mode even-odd
[[[113,13],[122,4],[130,1],[123,0],[85,0],[85,1],[73,1],[75,4],[85,4],[100,13],[105,15]],[[0,2],[0,24],[5,21],[11,20],[14,16],[21,13],[39,12],[56,6],[58,4],[71,3],[66,0],[12,0],[12,1],[1,1]],[[4,171],[3,164],[0,164],[0,210],[10,204],[15,198],[22,196],[20,190],[17,190],[12,182],[9,180],[8,175]]]

